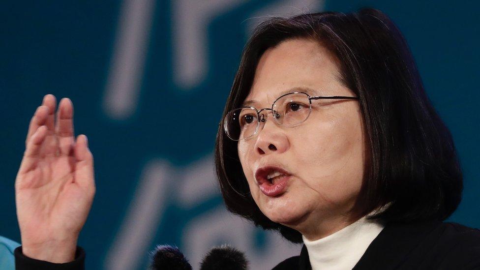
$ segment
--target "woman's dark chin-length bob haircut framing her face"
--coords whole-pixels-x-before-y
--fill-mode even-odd
[[[339,82],[360,98],[368,162],[353,216],[376,210],[368,218],[403,223],[449,217],[463,189],[450,131],[425,94],[404,37],[379,10],[273,17],[261,23],[243,50],[223,118],[250,92],[263,53],[299,38],[325,46],[338,60]],[[237,142],[227,137],[223,124],[216,137],[215,168],[229,211],[278,230],[287,240],[302,241],[299,232],[260,211],[243,174]]]

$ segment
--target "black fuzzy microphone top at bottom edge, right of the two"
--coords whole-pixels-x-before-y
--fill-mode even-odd
[[[200,270],[247,270],[245,254],[228,245],[214,247],[205,256]]]

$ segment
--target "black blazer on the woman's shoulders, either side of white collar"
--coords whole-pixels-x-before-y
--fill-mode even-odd
[[[273,268],[287,269],[311,269],[305,245]],[[480,269],[480,230],[440,221],[387,224],[353,269]]]

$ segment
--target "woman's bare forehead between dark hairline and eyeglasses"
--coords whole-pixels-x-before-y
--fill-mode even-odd
[[[243,105],[269,107],[282,94],[294,91],[323,95],[340,86],[337,78],[335,58],[317,41],[286,40],[268,49],[260,58]]]

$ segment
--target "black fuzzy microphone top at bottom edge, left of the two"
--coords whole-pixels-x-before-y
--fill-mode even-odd
[[[152,270],[192,270],[192,266],[183,256],[178,247],[170,245],[157,245],[150,252]]]

